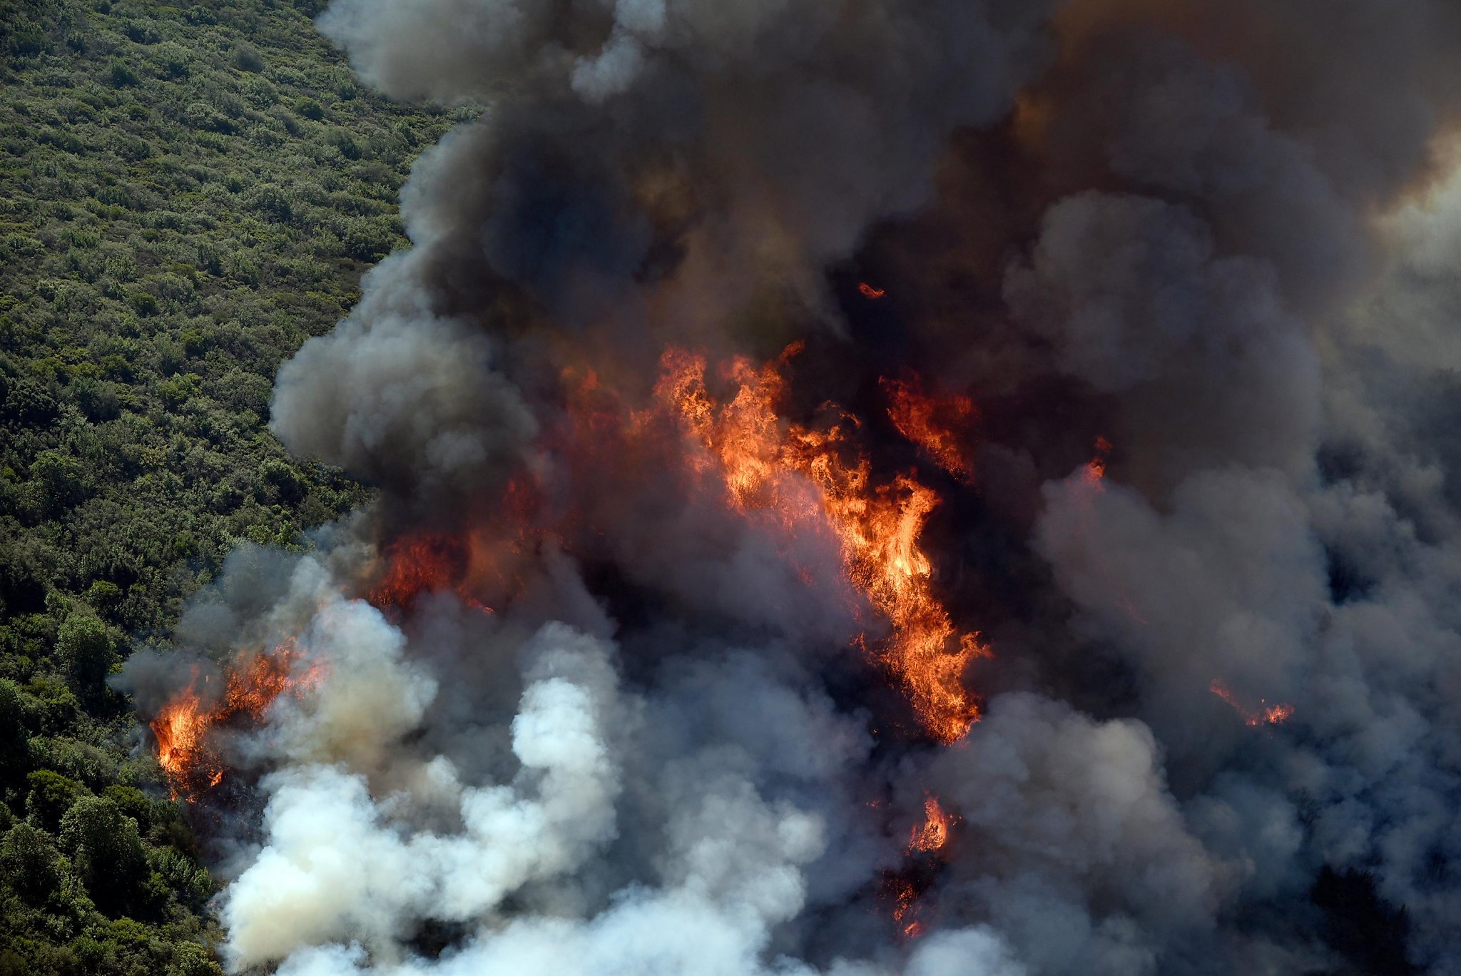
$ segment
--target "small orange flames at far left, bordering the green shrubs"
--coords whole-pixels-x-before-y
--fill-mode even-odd
[[[224,780],[225,767],[209,742],[212,729],[259,720],[281,694],[298,693],[318,679],[313,672],[292,676],[297,657],[292,638],[269,652],[241,655],[225,669],[221,694],[209,694],[215,681],[193,668],[187,687],[149,723],[174,799],[193,802]]]

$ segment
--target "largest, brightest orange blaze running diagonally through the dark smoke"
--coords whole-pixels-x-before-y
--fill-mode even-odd
[[[720,367],[732,387],[712,394],[704,357],[669,349],[656,394],[707,451],[730,501],[766,513],[789,532],[828,527],[840,542],[846,579],[888,622],[875,647],[907,693],[923,729],[939,742],[961,738],[979,719],[961,684],[970,660],[989,653],[977,633],[957,633],[932,592],[932,563],[919,545],[938,495],[912,475],[874,485],[866,457],[852,450],[843,422],[827,430],[787,424],[777,415],[783,370],[801,351],[755,367],[736,357]]]

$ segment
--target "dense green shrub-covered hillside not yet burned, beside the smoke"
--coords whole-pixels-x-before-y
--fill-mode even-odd
[[[457,120],[362,89],[318,6],[0,0],[0,976],[221,972],[108,675],[240,541],[362,500],[269,434],[273,375]]]

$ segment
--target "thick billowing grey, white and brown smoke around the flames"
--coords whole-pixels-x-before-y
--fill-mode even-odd
[[[228,745],[264,802],[229,964],[1461,975],[1458,20],[335,0],[367,82],[485,108],[279,373],[275,431],[375,510],[241,552],[180,631],[301,647]],[[567,374],[641,394],[666,343],[804,335],[855,374],[809,402],[901,367],[988,399],[931,530],[995,653],[951,747],[847,649],[836,541],[653,456],[573,484],[554,443]],[[342,595],[373,533],[489,522],[522,472],[579,535],[514,549],[508,606]]]

